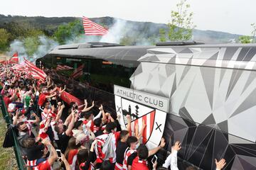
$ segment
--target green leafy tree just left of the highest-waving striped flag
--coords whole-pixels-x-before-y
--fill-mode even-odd
[[[67,40],[75,38],[83,33],[83,27],[80,20],[75,20],[68,24],[58,26],[58,29],[53,34],[53,38],[60,44],[65,44]]]

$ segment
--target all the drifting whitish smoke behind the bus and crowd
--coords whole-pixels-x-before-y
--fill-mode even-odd
[[[132,23],[130,21],[114,18],[114,23],[110,26],[107,35],[87,36],[75,33],[75,30],[78,30],[78,28],[74,28],[74,33],[68,40],[65,40],[65,44],[100,41],[122,43],[125,45],[152,45],[155,42],[159,42],[159,36],[154,35],[158,28],[151,27],[150,24],[151,23],[149,23],[149,26],[146,26],[145,29],[143,23]],[[143,32],[142,30],[147,31]],[[28,43],[29,45],[25,45],[26,38],[23,40],[14,40],[11,42],[8,55],[11,56],[15,52],[18,52],[20,63],[23,62],[23,57],[26,57],[26,59],[31,62],[35,62],[36,59],[43,57],[53,50],[54,47],[59,45],[58,42],[48,38],[46,35],[39,35],[37,40],[38,45],[35,45],[32,41]],[[31,54],[31,50],[33,54]]]

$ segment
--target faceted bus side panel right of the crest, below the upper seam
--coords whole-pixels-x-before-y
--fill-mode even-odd
[[[235,156],[256,160],[256,73],[242,69],[142,62],[132,86],[170,98],[164,137],[168,150],[181,141],[178,156],[203,169]],[[234,147],[235,145],[235,147]]]

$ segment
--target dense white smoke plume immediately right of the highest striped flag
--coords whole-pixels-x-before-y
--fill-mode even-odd
[[[114,24],[110,29],[108,30],[107,35],[104,35],[100,42],[112,42],[112,43],[119,43],[121,38],[124,37],[126,31],[127,21],[121,20],[121,19],[115,19]]]

